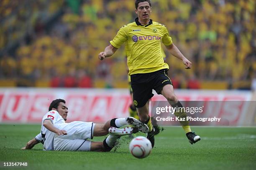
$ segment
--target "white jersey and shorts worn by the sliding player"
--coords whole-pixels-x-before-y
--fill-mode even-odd
[[[44,120],[51,120],[54,127],[66,130],[67,135],[57,135],[44,127]],[[89,151],[95,124],[93,122],[74,121],[66,123],[59,112],[51,110],[42,119],[41,133],[35,139],[44,144],[45,150],[84,150]]]

